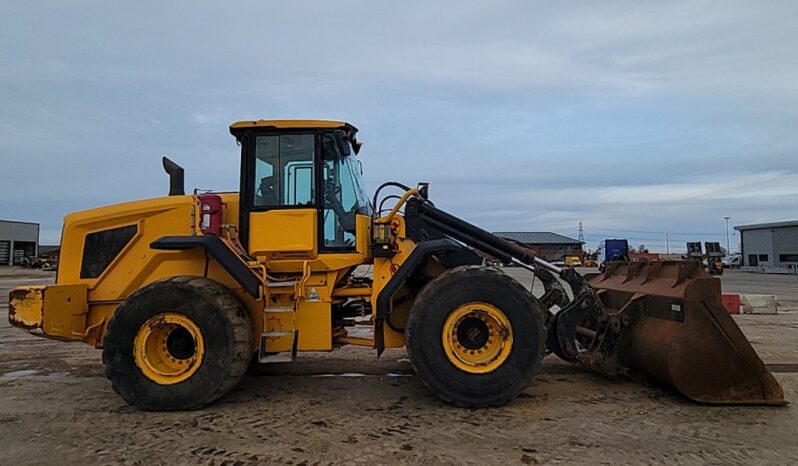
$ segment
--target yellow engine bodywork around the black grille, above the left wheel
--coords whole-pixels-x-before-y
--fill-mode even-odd
[[[224,222],[238,223],[238,193],[220,194],[225,202]],[[177,275],[207,277],[229,287],[251,309],[260,309],[241,286],[215,261],[209,261],[203,251],[191,249],[161,251],[150,244],[163,236],[191,236],[199,233],[198,204],[194,196],[168,196],[125,202],[96,209],[75,212],[64,218],[61,239],[61,258],[57,275],[59,286],[79,285],[85,290],[83,317],[70,317],[73,330],[82,329],[81,339],[99,345],[105,325],[116,307],[134,291],[157,280]],[[110,265],[96,278],[81,278],[83,246],[87,234],[135,225],[137,231]],[[46,287],[49,295],[52,286]],[[57,293],[57,292],[56,292]],[[75,302],[71,303],[75,306]],[[73,311],[62,308],[60,314]],[[261,327],[261,313],[252,312],[253,326]],[[80,322],[82,321],[82,322]],[[82,324],[82,325],[81,325]],[[62,331],[55,337],[67,337]],[[45,334],[50,335],[45,328]]]

